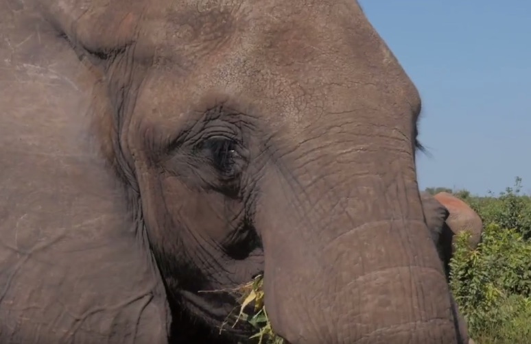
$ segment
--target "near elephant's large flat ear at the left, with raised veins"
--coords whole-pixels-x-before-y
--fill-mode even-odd
[[[167,344],[141,216],[90,129],[99,75],[20,3],[0,5],[0,343]]]

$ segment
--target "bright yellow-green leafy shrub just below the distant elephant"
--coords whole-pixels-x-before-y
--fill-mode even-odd
[[[477,249],[469,249],[469,235],[457,236],[450,285],[469,331],[481,333],[507,320],[502,305],[509,297],[531,296],[531,243],[494,223],[484,229]]]

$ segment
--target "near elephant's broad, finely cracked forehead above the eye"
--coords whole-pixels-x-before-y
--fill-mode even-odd
[[[221,95],[275,131],[290,126],[292,136],[318,118],[381,116],[384,106],[389,127],[410,132],[403,114],[419,107],[416,88],[355,2],[158,2],[142,14],[134,49],[154,60],[139,90],[139,120],[175,127]]]

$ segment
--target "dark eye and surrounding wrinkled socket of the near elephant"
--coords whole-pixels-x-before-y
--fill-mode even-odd
[[[250,146],[259,134],[256,124],[247,118],[223,106],[189,112],[174,135],[154,130],[158,134],[152,137],[167,138],[159,141],[158,161],[165,171],[184,177],[187,184],[239,199],[253,151]]]

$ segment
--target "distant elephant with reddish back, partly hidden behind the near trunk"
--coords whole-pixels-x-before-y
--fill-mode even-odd
[[[427,227],[436,243],[449,280],[449,263],[455,251],[454,236],[460,232],[469,232],[469,247],[475,249],[481,240],[483,221],[467,203],[451,193],[430,195],[422,191],[421,199]]]

